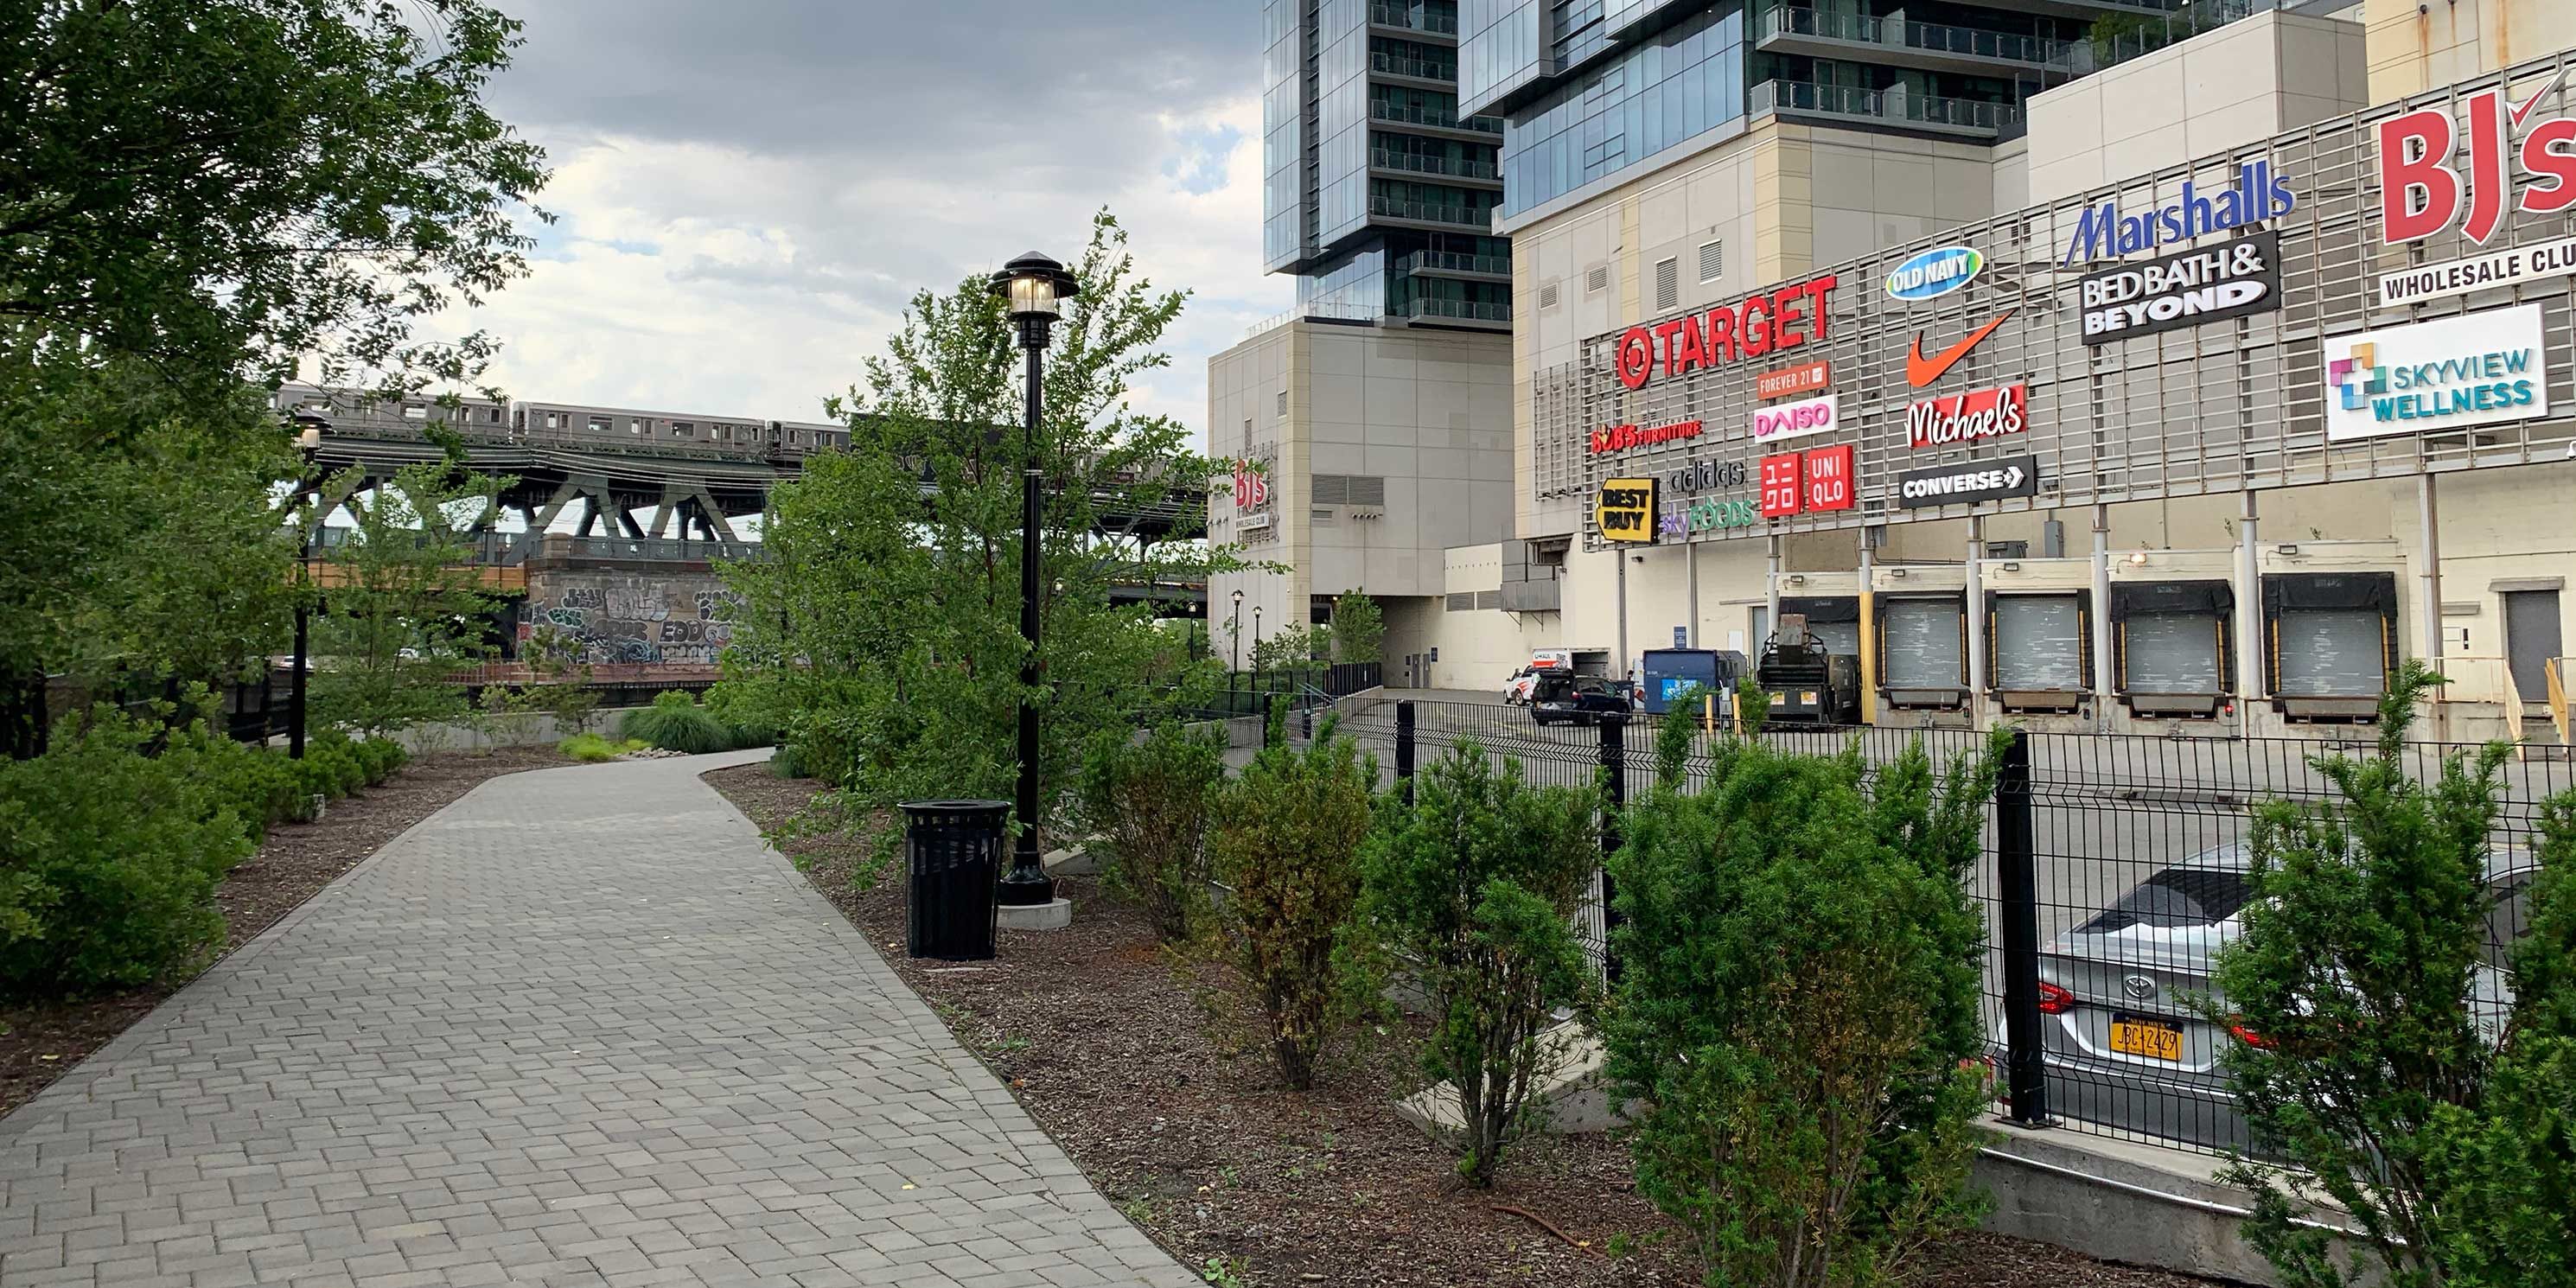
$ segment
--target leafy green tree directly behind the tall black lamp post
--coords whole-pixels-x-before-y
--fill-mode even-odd
[[[1136,276],[1126,232],[1100,214],[1074,263],[1046,350],[1036,451],[1020,430],[1020,348],[981,278],[922,291],[866,394],[835,399],[848,451],[809,461],[773,495],[768,559],[729,564],[742,595],[724,698],[768,711],[809,768],[842,783],[835,806],[904,796],[1010,796],[1020,665],[1020,471],[1046,471],[1041,793],[1072,791],[1082,747],[1133,729],[1157,685],[1211,683],[1188,641],[1146,608],[1110,603],[1123,580],[1193,580],[1234,567],[1193,541],[1113,549],[1118,515],[1172,510],[1211,474],[1177,420],[1128,404],[1131,381],[1170,366],[1157,345],[1180,291]],[[935,492],[925,497],[922,484]],[[1182,500],[1180,528],[1200,520]]]

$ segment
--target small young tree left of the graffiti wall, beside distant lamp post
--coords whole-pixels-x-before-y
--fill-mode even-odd
[[[471,531],[502,479],[451,464],[404,466],[358,510],[322,569],[312,711],[319,724],[384,734],[464,716],[456,670],[487,652],[495,598],[471,562]]]

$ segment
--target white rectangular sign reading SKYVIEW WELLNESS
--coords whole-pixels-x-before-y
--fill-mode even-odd
[[[2540,304],[2326,340],[2326,440],[2550,412]]]

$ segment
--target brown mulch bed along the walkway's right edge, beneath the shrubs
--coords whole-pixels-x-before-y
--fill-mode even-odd
[[[760,827],[817,791],[762,765],[706,781]],[[1100,1193],[1190,1270],[1234,1275],[1211,1273],[1216,1283],[1698,1283],[1672,1226],[1633,1193],[1615,1139],[1530,1141],[1504,1159],[1494,1193],[1466,1190],[1450,1154],[1394,1113],[1391,1090],[1419,1084],[1401,1028],[1334,1051],[1314,1092],[1285,1092],[1257,1012],[1224,971],[1170,958],[1095,881],[1064,881],[1072,930],[1005,930],[999,961],[953,966],[904,956],[899,871],[860,891],[855,845],[796,837],[786,850]],[[2202,1285],[1994,1234],[1937,1247],[1914,1283]]]

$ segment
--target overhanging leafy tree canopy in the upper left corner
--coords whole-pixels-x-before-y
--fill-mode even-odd
[[[479,0],[8,5],[0,350],[196,397],[307,355],[469,376],[484,340],[412,327],[526,273],[544,152],[482,106],[518,41]]]

